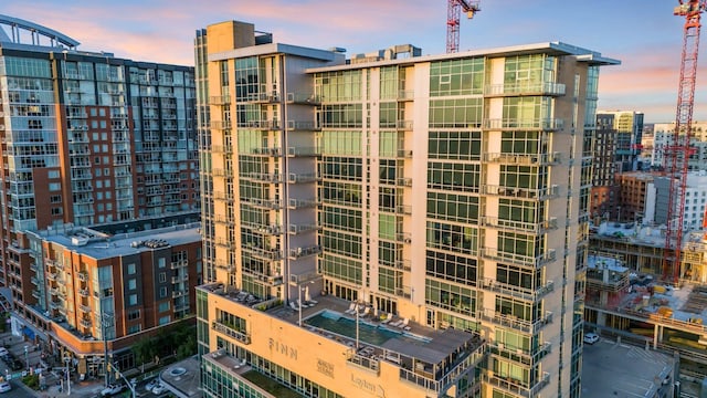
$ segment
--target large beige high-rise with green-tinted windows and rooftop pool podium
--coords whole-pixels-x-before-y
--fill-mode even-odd
[[[579,397],[597,83],[618,61],[347,61],[235,21],[194,44],[205,396]]]

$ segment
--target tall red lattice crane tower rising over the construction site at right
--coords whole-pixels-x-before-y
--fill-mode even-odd
[[[683,244],[685,218],[685,190],[690,147],[693,107],[695,105],[695,77],[699,51],[700,14],[707,9],[707,0],[678,0],[674,14],[685,17],[683,28],[683,54],[677,92],[677,116],[673,143],[667,146],[664,161],[669,178],[667,229],[663,251],[663,280],[677,284]]]

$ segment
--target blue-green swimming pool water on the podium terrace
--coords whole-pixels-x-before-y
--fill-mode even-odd
[[[339,313],[325,310],[312,317],[305,320],[305,323],[331,333],[346,336],[349,338],[356,338],[356,321],[341,316]],[[369,325],[367,323],[358,323],[359,339],[368,344],[381,346],[383,343],[391,338],[398,338],[401,341],[409,341],[410,343],[420,344],[419,339],[407,337],[401,333],[395,333],[383,327]]]

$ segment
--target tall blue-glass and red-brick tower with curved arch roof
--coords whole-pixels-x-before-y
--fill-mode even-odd
[[[0,15],[0,283],[19,305],[35,303],[24,231],[200,205],[193,67],[78,44]]]

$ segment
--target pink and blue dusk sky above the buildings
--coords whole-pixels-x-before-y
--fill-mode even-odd
[[[446,0],[34,0],[4,2],[0,13],[60,31],[80,50],[193,65],[194,31],[240,20],[274,41],[347,49],[347,56],[410,43],[423,54],[445,51]],[[671,0],[482,0],[463,17],[461,50],[548,41],[618,59],[602,69],[600,109],[640,111],[646,123],[675,121],[685,19]],[[707,15],[703,17],[707,23]],[[695,91],[695,121],[707,121],[707,39]]]

